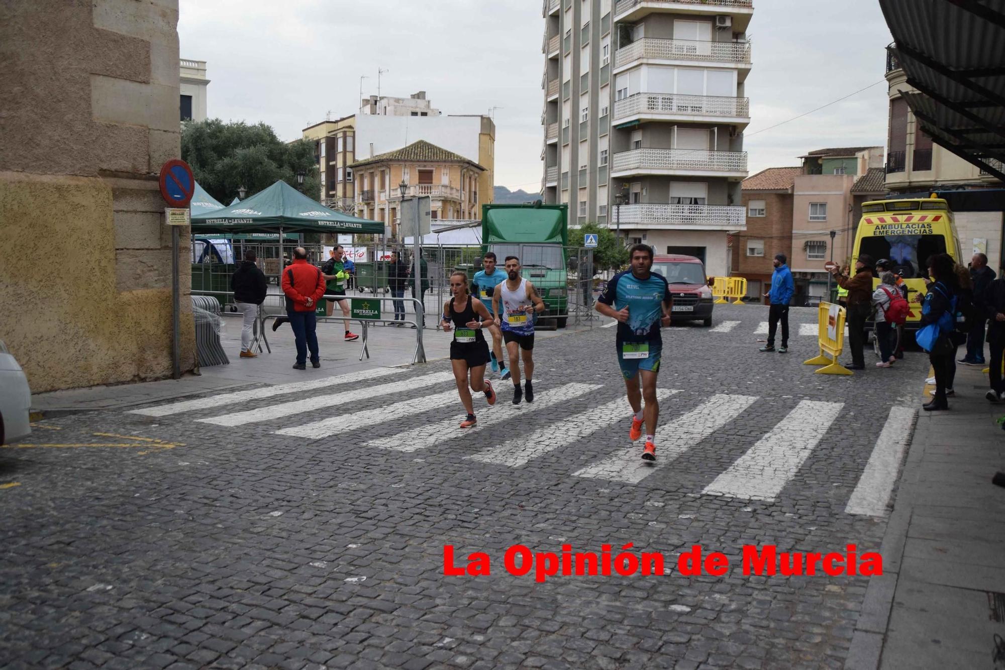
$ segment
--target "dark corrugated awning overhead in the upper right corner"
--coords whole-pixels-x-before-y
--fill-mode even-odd
[[[879,0],[934,142],[1005,182],[1005,0]]]

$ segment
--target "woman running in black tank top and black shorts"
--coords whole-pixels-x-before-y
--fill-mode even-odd
[[[457,382],[457,393],[464,405],[467,416],[460,423],[461,428],[470,428],[477,421],[471,393],[467,390],[467,373],[471,373],[471,391],[484,391],[489,405],[495,404],[495,392],[485,379],[485,364],[488,363],[488,344],[481,334],[494,320],[485,305],[467,290],[467,274],[454,272],[450,275],[450,292],[453,296],[443,303],[443,319],[440,321],[444,332],[453,328],[450,343],[450,365],[453,378]],[[478,320],[478,317],[481,320]]]

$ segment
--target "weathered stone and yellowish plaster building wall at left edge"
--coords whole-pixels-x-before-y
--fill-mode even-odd
[[[177,23],[177,0],[0,5],[0,86],[17,92],[0,102],[0,340],[34,392],[171,374],[157,174],[180,154]]]

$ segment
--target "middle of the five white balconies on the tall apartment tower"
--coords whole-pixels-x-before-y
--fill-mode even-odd
[[[746,127],[750,123],[750,100],[718,95],[635,93],[614,103],[614,121],[684,121]]]

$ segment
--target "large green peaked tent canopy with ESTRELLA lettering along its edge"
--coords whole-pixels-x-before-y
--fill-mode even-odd
[[[325,207],[283,181],[235,205],[205,214],[192,213],[192,233],[283,232],[311,230],[326,233],[384,233],[384,224],[360,219]]]

